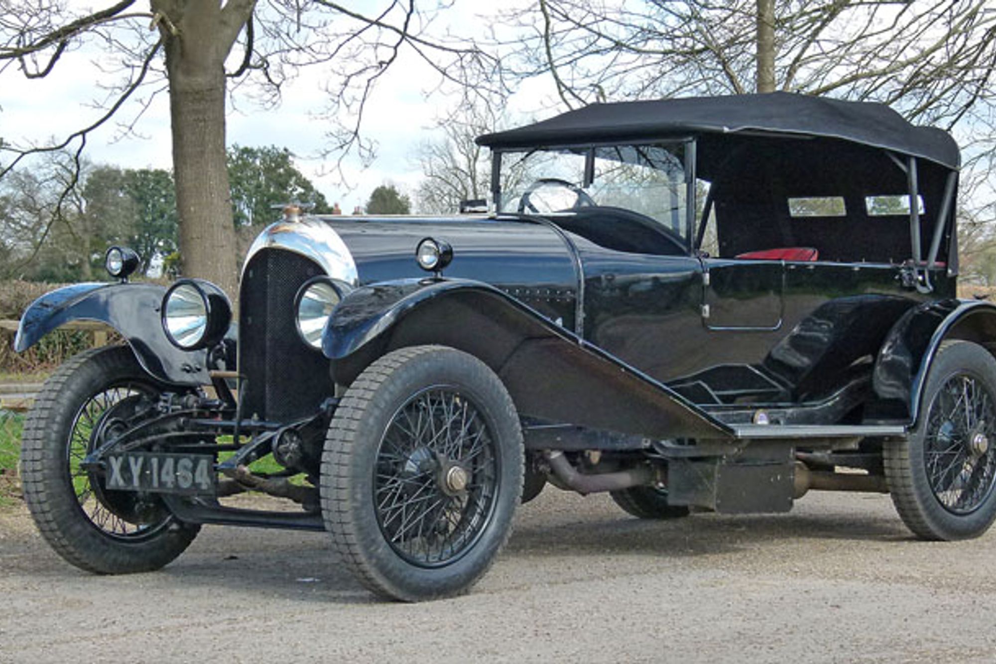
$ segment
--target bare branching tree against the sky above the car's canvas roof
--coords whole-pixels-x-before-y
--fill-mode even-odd
[[[782,90],[882,102],[952,131],[966,263],[992,241],[991,0],[539,0],[495,24],[509,81],[549,77],[566,108]]]

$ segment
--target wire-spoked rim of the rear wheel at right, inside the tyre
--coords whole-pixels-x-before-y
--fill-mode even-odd
[[[967,514],[993,490],[996,405],[979,379],[949,378],[930,406],[923,442],[930,490],[945,509]]]

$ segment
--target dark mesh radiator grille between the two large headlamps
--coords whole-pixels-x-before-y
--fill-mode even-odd
[[[323,273],[283,249],[263,249],[246,266],[239,313],[244,417],[284,422],[314,413],[333,394],[328,361],[301,340],[294,320],[301,284]]]

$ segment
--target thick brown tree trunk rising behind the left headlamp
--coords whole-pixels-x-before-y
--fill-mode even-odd
[[[218,34],[219,4],[153,0],[152,6],[170,17],[175,30],[165,47],[181,272],[214,282],[235,300],[235,228],[225,156],[224,62],[231,41]]]

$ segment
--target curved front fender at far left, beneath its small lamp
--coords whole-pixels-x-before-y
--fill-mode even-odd
[[[153,378],[175,385],[206,384],[207,351],[182,351],[162,329],[159,307],[165,291],[147,283],[80,283],[46,293],[21,317],[14,350],[26,351],[70,321],[99,321],[124,337],[138,364]]]

